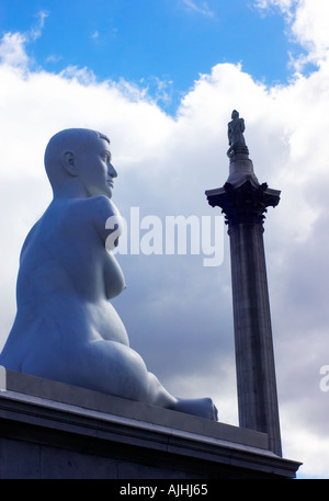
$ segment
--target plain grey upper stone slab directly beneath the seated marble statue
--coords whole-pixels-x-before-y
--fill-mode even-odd
[[[162,409],[158,406],[7,371],[0,366],[1,373],[2,379],[0,382],[2,383],[0,387],[2,389],[7,392],[13,391],[14,395],[25,395],[31,401],[34,401],[33,397],[48,399],[49,401],[75,406],[75,411],[79,408],[89,409],[120,417],[125,419],[127,423],[131,423],[131,420],[134,420],[135,424],[146,422],[150,425],[166,426],[184,433],[196,433],[227,442],[236,442],[240,445],[268,449],[268,435],[265,433],[257,433],[253,430],[243,430],[185,412]]]

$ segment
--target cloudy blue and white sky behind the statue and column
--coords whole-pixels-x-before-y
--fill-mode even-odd
[[[131,344],[172,394],[211,396],[238,424],[229,242],[204,195],[228,177],[237,109],[258,179],[282,191],[264,241],[283,452],[299,478],[329,478],[328,25],[328,0],[2,0],[0,349],[21,246],[52,200],[45,146],[95,128],[139,228],[113,300]],[[166,252],[170,216],[213,225],[216,266],[211,242]]]

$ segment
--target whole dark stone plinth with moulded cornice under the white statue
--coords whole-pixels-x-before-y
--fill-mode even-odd
[[[0,367],[0,478],[294,478],[268,436]]]

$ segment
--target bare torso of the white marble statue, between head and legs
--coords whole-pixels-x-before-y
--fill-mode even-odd
[[[92,200],[50,204],[26,237],[18,277],[18,315],[8,340],[8,345],[16,344],[9,352],[20,364],[25,345],[31,353],[31,346],[35,352],[42,352],[42,346],[76,350],[99,339],[128,344],[109,301],[125,287],[124,276],[98,234],[99,212],[93,209]]]

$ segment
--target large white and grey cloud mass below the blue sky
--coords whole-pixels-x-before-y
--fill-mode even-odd
[[[310,9],[310,3],[297,7],[303,20],[302,8]],[[315,7],[307,36],[318,37],[320,47],[317,12]],[[246,119],[259,180],[282,190],[279,207],[269,209],[264,240],[283,448],[286,457],[304,462],[302,472],[328,478],[325,447],[321,465],[316,463],[318,447],[328,442],[328,394],[319,389],[319,369],[329,364],[327,53],[309,77],[299,75],[272,89],[254,82],[239,66],[216,65],[211,75],[200,76],[172,118],[127,81],[98,82],[88,68],[70,67],[60,75],[29,70],[25,41],[22,34],[8,34],[0,45],[0,345],[14,316],[22,241],[50,200],[43,169],[49,137],[70,126],[97,128],[111,137],[120,173],[114,197],[124,216],[131,206],[159,217],[214,215],[220,213],[207,205],[204,191],[223,185],[228,177],[226,127],[236,107]],[[172,392],[189,397],[206,391],[219,407],[220,420],[234,424],[226,234],[223,265],[205,269],[198,258],[118,257],[128,287],[115,307],[133,346]]]

